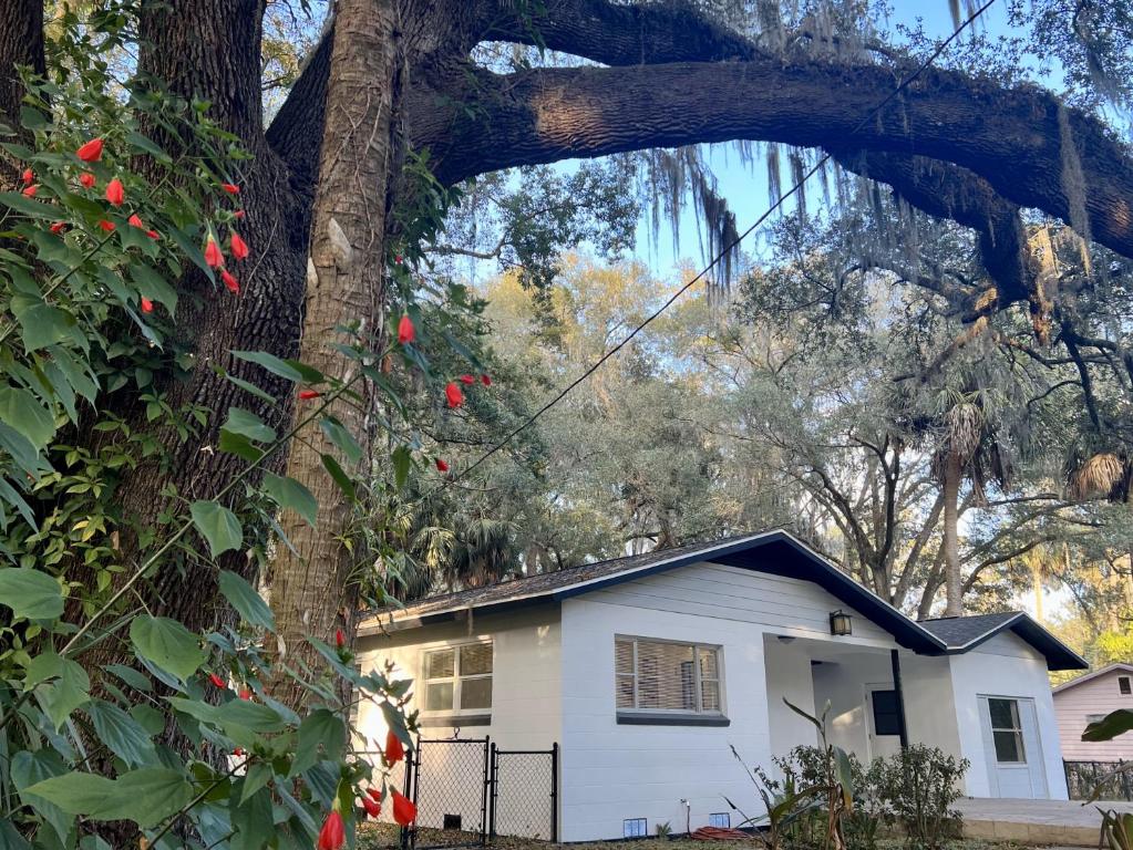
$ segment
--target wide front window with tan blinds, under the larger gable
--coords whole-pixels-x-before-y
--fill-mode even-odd
[[[723,711],[718,646],[617,637],[614,670],[619,711]]]

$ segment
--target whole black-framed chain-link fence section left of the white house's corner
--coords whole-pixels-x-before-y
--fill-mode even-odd
[[[403,848],[460,845],[451,839],[429,844],[423,830],[466,833],[466,845],[496,835],[559,840],[557,744],[505,750],[488,738],[419,738],[403,781],[417,806],[417,822],[401,833]]]

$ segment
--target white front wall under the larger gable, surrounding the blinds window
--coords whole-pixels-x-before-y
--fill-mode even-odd
[[[854,617],[852,637],[829,634],[829,613],[838,608]],[[719,644],[731,725],[617,724],[616,634]],[[650,833],[665,822],[674,832],[696,830],[709,814],[729,812],[724,796],[759,810],[730,745],[746,763],[769,770],[773,752],[813,740],[795,730],[808,737],[776,737],[773,749],[770,730],[784,715],[776,707],[773,727],[768,704],[782,705],[784,693],[804,699],[810,672],[809,661],[798,659],[801,669],[791,675],[786,655],[768,671],[765,634],[893,646],[887,633],[816,584],[738,567],[698,564],[563,602],[562,840],[620,838],[623,819],[634,817],[647,818]],[[783,692],[768,694],[769,682]],[[682,799],[691,806],[688,823]]]

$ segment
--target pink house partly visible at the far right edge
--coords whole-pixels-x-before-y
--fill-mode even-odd
[[[1133,664],[1109,664],[1054,689],[1055,716],[1067,762],[1118,762],[1133,758],[1133,735],[1109,741],[1083,741],[1088,723],[1111,711],[1133,709]]]

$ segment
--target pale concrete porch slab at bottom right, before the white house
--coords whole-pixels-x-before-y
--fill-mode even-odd
[[[1023,844],[1097,847],[1101,815],[1098,808],[1133,812],[1133,802],[1098,800],[1008,800],[965,798],[956,802],[964,818],[964,836]]]

